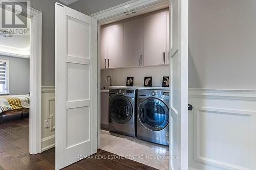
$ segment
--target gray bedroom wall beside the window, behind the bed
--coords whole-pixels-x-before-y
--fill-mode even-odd
[[[0,56],[0,59],[9,60],[9,93],[29,93],[29,59]]]

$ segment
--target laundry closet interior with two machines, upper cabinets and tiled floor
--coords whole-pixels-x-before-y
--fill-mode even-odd
[[[100,149],[168,169],[157,159],[169,155],[168,4],[99,28]]]

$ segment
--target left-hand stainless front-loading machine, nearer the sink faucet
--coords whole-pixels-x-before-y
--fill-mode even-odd
[[[135,137],[136,89],[110,89],[109,131]]]

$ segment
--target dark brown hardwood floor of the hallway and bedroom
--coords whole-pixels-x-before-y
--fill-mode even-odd
[[[8,115],[0,124],[0,169],[54,169],[54,148],[36,155],[29,154],[29,116],[24,113]],[[98,150],[89,158],[82,159],[63,169],[81,170],[134,170],[156,168]]]

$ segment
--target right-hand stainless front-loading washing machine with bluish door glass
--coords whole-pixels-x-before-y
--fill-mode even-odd
[[[139,89],[137,138],[169,145],[169,90]]]

